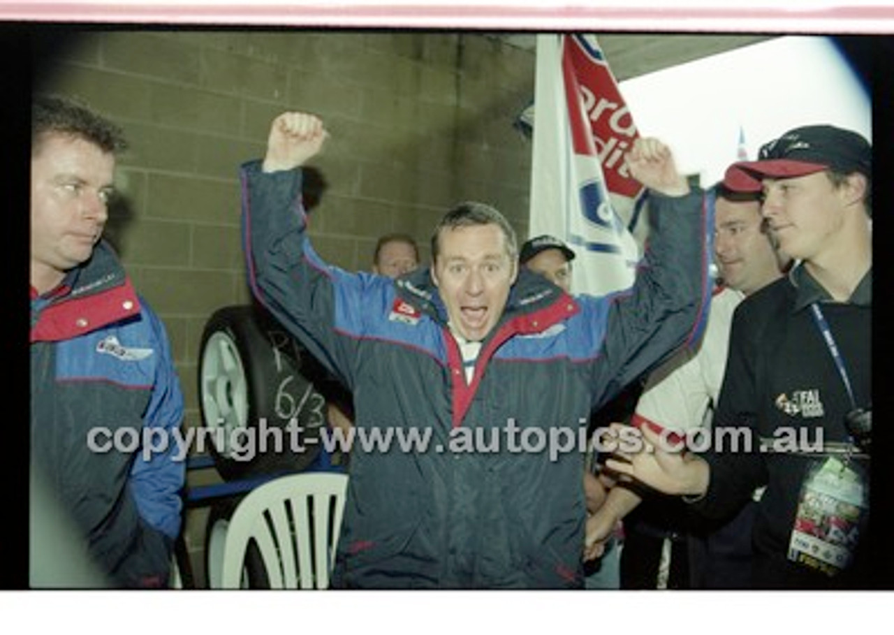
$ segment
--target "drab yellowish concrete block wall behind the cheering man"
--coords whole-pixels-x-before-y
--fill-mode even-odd
[[[285,109],[331,133],[310,235],[329,262],[368,269],[375,240],[413,235],[460,200],[493,204],[527,234],[530,142],[512,127],[534,94],[534,55],[475,33],[72,30],[38,38],[34,88],[81,97],[124,128],[108,236],[164,321],[199,424],[207,318],[249,300],[238,166],[262,157]],[[201,476],[190,478],[200,482]],[[204,516],[187,515],[200,551]]]

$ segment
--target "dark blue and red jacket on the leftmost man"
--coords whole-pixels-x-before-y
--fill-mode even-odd
[[[166,585],[181,528],[185,468],[172,457],[183,396],[164,326],[105,242],[53,292],[32,288],[30,350],[31,461],[83,534],[72,549],[86,537],[113,586]],[[147,460],[150,427],[170,443]]]

